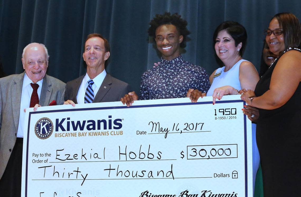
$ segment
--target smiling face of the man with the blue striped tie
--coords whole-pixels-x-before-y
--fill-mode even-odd
[[[104,40],[100,37],[89,38],[85,43],[85,52],[82,54],[88,69],[104,70],[104,63],[110,57],[110,52],[105,52]]]

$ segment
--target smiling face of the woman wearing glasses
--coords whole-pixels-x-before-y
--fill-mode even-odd
[[[283,30],[279,28],[279,23],[276,18],[273,18],[271,20],[268,29],[271,31]],[[273,33],[271,35],[267,35],[265,36],[265,41],[266,43],[268,43],[270,51],[277,56],[281,51],[284,51],[285,49],[283,33],[281,35],[274,35]]]

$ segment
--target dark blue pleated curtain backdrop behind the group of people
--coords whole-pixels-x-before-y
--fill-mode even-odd
[[[50,55],[48,74],[70,81],[85,73],[85,38],[100,33],[111,46],[107,72],[139,92],[141,75],[160,60],[147,35],[155,14],[179,13],[188,21],[190,41],[185,60],[210,75],[219,67],[213,50],[216,26],[234,20],[248,33],[244,59],[259,70],[263,30],[278,12],[301,19],[301,1],[278,0],[0,0],[0,56],[6,74],[23,72],[21,54],[31,42],[44,43]]]

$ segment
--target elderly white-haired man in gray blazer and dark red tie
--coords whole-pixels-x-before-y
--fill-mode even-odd
[[[31,43],[22,54],[25,72],[0,78],[0,191],[21,195],[25,108],[63,104],[65,83],[46,75],[48,51]]]

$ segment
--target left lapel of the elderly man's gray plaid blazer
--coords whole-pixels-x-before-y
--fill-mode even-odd
[[[14,79],[14,84],[11,87],[11,106],[13,110],[14,123],[16,131],[18,130],[19,118],[20,118],[20,104],[21,104],[21,95],[22,95],[22,86],[25,72],[17,75]]]

